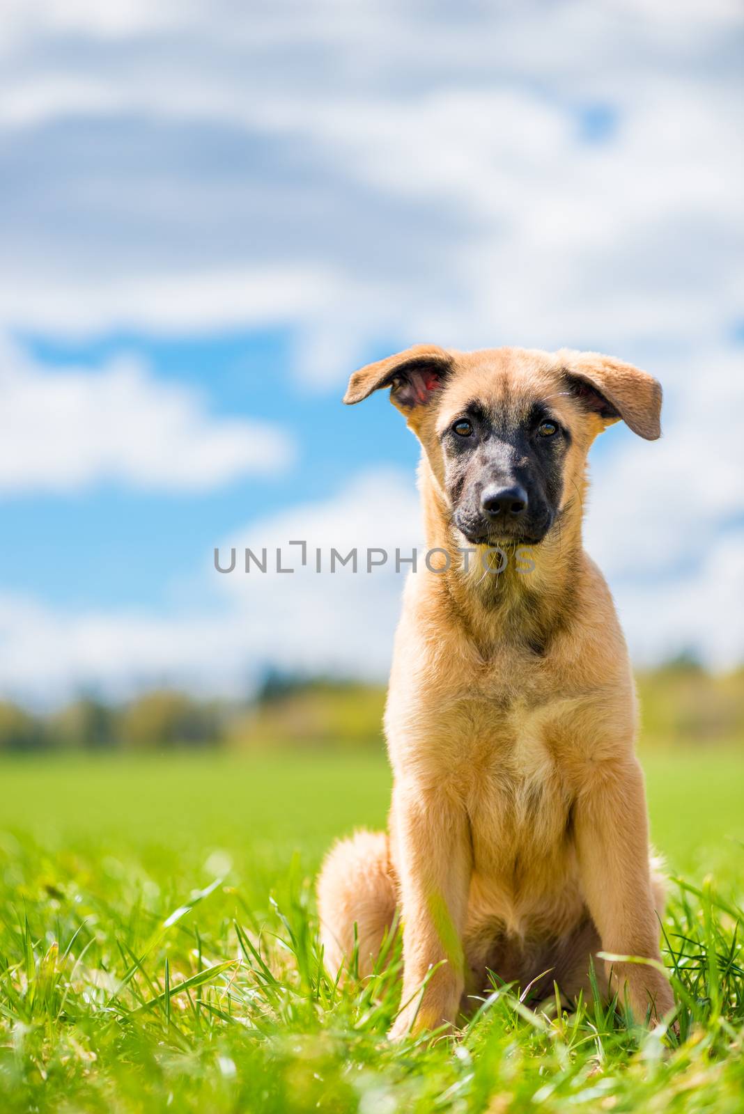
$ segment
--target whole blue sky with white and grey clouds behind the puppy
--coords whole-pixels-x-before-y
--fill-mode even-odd
[[[587,545],[637,661],[742,661],[737,4],[11,0],[3,23],[0,693],[384,675],[400,578],[211,559],[415,544],[413,438],[340,399],[418,341],[656,374],[665,437],[596,446]]]

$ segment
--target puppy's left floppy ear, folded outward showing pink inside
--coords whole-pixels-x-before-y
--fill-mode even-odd
[[[452,368],[452,358],[435,344],[413,348],[355,371],[349,380],[344,402],[366,399],[382,387],[392,387],[390,401],[405,411],[425,405]]]

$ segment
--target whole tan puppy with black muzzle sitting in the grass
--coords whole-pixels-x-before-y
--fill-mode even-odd
[[[599,950],[659,960],[633,678],[581,518],[595,437],[623,419],[657,438],[662,391],[596,353],[432,345],[358,371],[344,401],[383,387],[422,446],[442,570],[409,576],[395,636],[390,833],[336,844],[319,905],[329,966],[356,931],[362,974],[400,907],[401,1036],[453,1023],[487,968],[570,998]],[[655,966],[595,966],[637,1019],[672,1008]]]

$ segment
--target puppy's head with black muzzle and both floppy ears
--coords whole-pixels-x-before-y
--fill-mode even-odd
[[[354,372],[344,402],[391,388],[471,544],[541,541],[580,491],[589,446],[623,420],[660,434],[662,388],[596,352],[419,344]]]

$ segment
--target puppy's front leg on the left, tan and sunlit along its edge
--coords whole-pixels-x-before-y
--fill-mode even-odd
[[[463,805],[441,789],[397,784],[403,990],[391,1037],[454,1022],[463,989],[462,932],[471,853]]]

